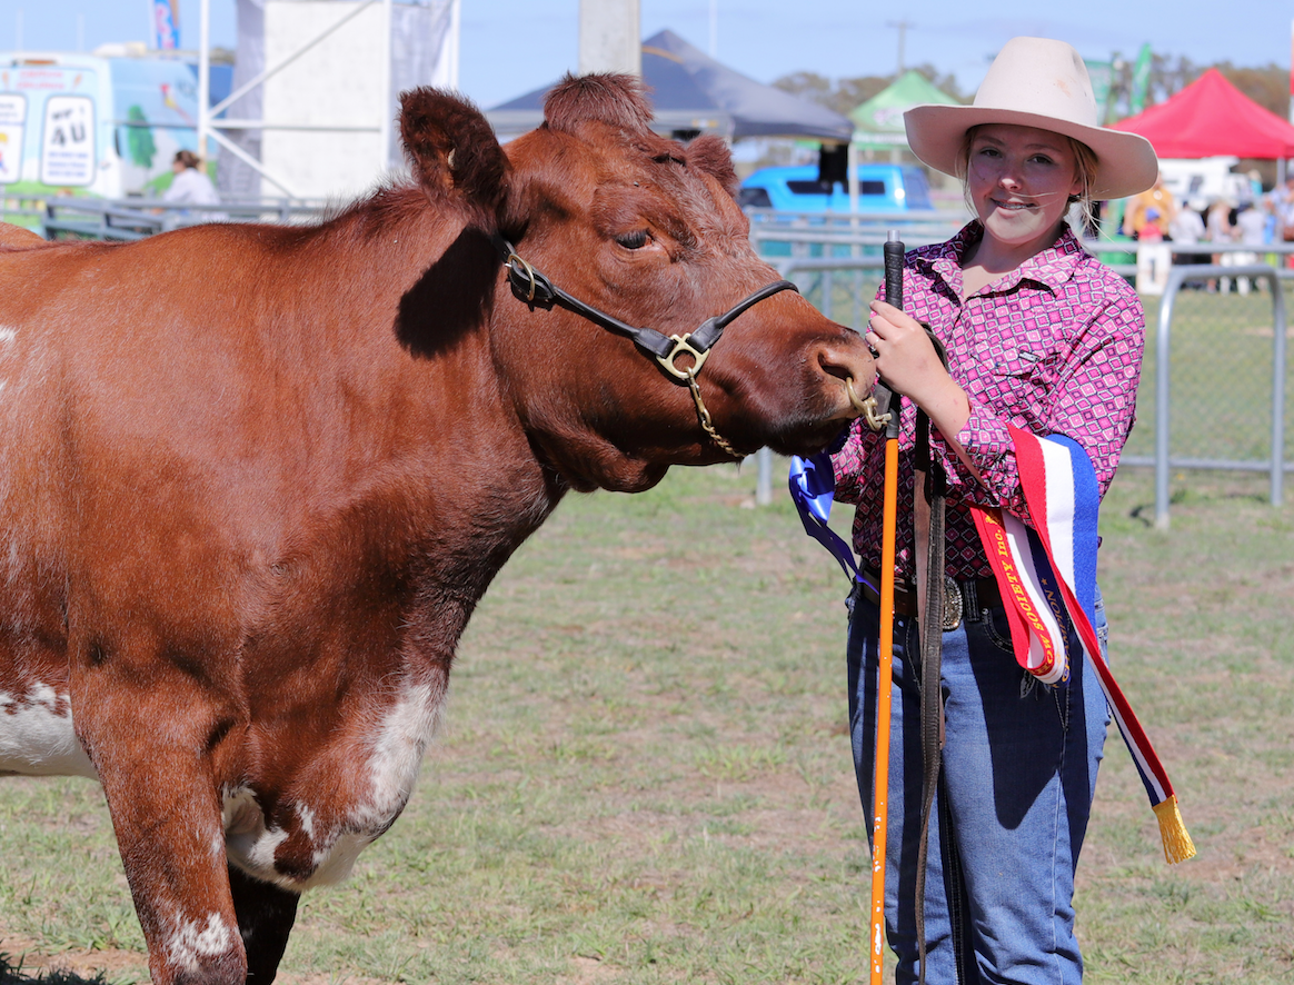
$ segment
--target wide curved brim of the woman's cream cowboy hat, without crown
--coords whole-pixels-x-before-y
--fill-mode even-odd
[[[945,175],[958,175],[961,141],[970,127],[985,123],[1011,123],[1036,127],[1073,137],[1096,155],[1091,195],[1096,201],[1127,198],[1150,188],[1159,176],[1159,159],[1150,141],[1140,133],[1105,127],[1086,127],[1038,113],[995,109],[992,106],[914,106],[903,114],[907,144],[917,159]]]

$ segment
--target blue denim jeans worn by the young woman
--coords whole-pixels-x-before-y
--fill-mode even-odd
[[[850,612],[849,721],[871,837],[879,611],[855,593]],[[1104,650],[1100,593],[1096,632]],[[893,667],[885,923],[895,981],[907,985],[917,980],[921,810],[915,619],[894,619]],[[1039,683],[1016,663],[1005,614],[991,608],[943,633],[942,690],[947,742],[930,818],[925,980],[1078,985],[1074,869],[1109,724],[1096,672],[1075,660],[1068,685]]]

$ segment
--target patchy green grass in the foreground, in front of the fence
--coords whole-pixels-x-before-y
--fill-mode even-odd
[[[783,472],[784,474],[784,472]],[[573,497],[503,571],[405,815],[307,896],[281,981],[851,982],[868,862],[844,579],[753,470]],[[1102,518],[1112,661],[1200,857],[1167,867],[1112,734],[1080,866],[1093,985],[1294,980],[1294,507],[1148,471]],[[839,511],[841,526],[848,510]],[[97,787],[0,782],[3,982],[146,980]]]

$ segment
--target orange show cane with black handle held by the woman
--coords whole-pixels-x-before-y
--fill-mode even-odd
[[[885,300],[903,307],[903,243],[890,229],[885,242]],[[876,765],[872,771],[871,985],[881,985],[885,957],[885,840],[889,812],[890,690],[894,668],[894,540],[898,526],[899,395],[885,422],[885,487],[881,524],[880,641],[876,686]]]

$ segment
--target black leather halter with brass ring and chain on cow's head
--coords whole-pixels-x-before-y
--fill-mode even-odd
[[[798,291],[800,289],[796,285],[791,281],[774,281],[743,298],[722,315],[707,318],[692,331],[683,335],[665,335],[661,331],[656,331],[656,329],[635,327],[622,322],[620,318],[598,311],[591,304],[585,304],[578,298],[572,298],[523,260],[506,239],[494,237],[494,246],[503,258],[503,267],[507,269],[507,281],[512,286],[512,294],[518,299],[531,307],[551,308],[554,304],[558,304],[567,311],[584,316],[594,325],[600,325],[608,331],[631,339],[634,346],[644,355],[655,359],[675,383],[683,384],[691,391],[692,401],[696,404],[696,417],[714,444],[734,458],[745,457],[714,430],[710,412],[705,409],[705,401],[701,400],[701,390],[696,384],[696,375],[701,371],[705,359],[710,355],[710,348],[719,340],[723,329],[732,320],[765,298],[771,298],[780,291]],[[681,356],[690,357],[691,365],[681,365],[678,362]]]

